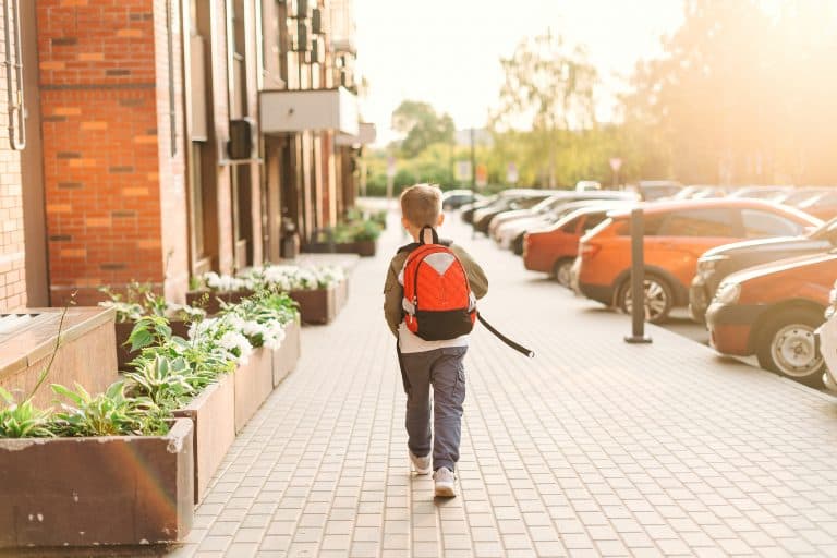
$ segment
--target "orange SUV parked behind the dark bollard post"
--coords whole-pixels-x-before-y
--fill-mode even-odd
[[[757,199],[663,202],[645,210],[645,292],[648,319],[665,322],[689,304],[688,286],[707,250],[748,239],[802,234],[822,225],[792,207]],[[630,310],[630,213],[615,211],[581,239],[579,289],[589,299]]]

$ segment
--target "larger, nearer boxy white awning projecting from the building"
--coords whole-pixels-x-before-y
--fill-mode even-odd
[[[259,95],[262,133],[333,130],[356,136],[357,97],[344,87],[266,90]]]

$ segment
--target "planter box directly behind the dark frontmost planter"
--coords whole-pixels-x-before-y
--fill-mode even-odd
[[[235,441],[235,379],[221,376],[174,416],[189,418],[194,427],[194,501],[199,504],[209,482]]]

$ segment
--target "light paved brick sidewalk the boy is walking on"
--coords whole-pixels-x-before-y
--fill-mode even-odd
[[[662,329],[628,345],[626,316],[470,233],[484,314],[537,356],[475,333],[462,494],[434,501],[380,311],[400,240],[356,266],[335,324],[304,329],[170,556],[837,556],[837,400]]]

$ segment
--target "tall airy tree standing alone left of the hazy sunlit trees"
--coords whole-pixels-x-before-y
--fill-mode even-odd
[[[583,48],[570,49],[550,32],[521,41],[511,58],[500,63],[506,80],[500,106],[492,116],[493,128],[499,132],[531,129],[526,162],[537,166],[543,182],[556,187],[558,153],[569,147],[569,132],[596,124],[596,70]]]

